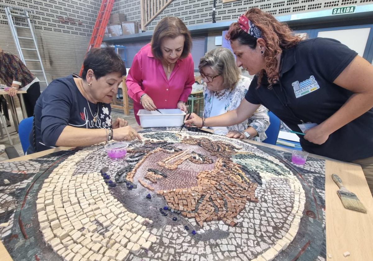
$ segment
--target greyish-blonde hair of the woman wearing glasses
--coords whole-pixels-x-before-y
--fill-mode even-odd
[[[236,66],[236,61],[231,50],[219,47],[207,52],[200,59],[200,65],[198,65],[200,73],[202,73],[202,68],[205,66],[210,66],[218,75],[223,76],[223,87],[225,89],[234,89],[241,71]]]

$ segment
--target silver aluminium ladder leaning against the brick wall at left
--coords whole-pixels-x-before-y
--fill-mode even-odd
[[[37,77],[43,76],[44,80],[42,77],[38,77],[38,79],[40,80],[40,83],[45,82],[46,86],[48,86],[47,76],[44,70],[43,62],[41,61],[34,27],[32,26],[28,12],[23,9],[7,6],[5,7],[5,13],[19,54],[19,58],[28,67],[32,74]],[[18,31],[17,28],[20,31]],[[25,59],[23,51],[26,51],[26,57],[28,59]]]

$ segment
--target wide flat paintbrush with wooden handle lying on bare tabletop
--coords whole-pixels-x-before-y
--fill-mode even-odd
[[[357,198],[357,196],[352,193],[351,191],[348,191],[347,188],[342,183],[341,178],[337,174],[332,174],[332,179],[334,182],[338,185],[340,188],[337,191],[337,194],[339,198],[342,201],[342,204],[345,208],[362,212],[362,213],[367,213],[366,208],[364,207],[363,203],[360,202],[360,200]]]

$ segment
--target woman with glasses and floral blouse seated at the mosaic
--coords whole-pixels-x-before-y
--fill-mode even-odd
[[[241,75],[231,50],[216,48],[200,59],[198,66],[204,80],[204,117],[213,117],[235,110],[245,97],[251,79]],[[224,133],[229,138],[263,141],[269,116],[260,106],[248,119],[228,127],[210,127],[215,133]]]

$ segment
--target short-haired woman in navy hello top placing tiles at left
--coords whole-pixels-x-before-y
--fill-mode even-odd
[[[85,57],[82,78],[70,75],[49,84],[35,106],[27,154],[55,146],[89,146],[141,136],[124,119],[112,123],[110,101],[126,68],[113,48],[93,48]]]

